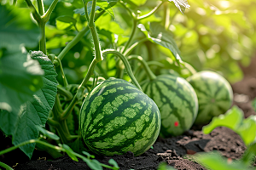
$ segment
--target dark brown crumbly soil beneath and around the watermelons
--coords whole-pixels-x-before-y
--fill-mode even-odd
[[[248,67],[242,67],[244,78],[241,82],[232,84],[234,92],[233,105],[237,105],[244,111],[244,116],[256,115],[251,105],[252,100],[256,97],[256,58],[253,58],[252,64]],[[9,148],[11,139],[0,135],[0,150]],[[205,170],[195,161],[186,159],[186,155],[194,155],[197,152],[209,152],[217,150],[223,156],[236,160],[241,158],[246,150],[238,134],[226,127],[217,127],[210,134],[203,134],[201,127],[192,127],[188,132],[181,136],[168,139],[157,139],[153,149],[149,149],[142,156],[134,157],[131,152],[123,156],[96,156],[96,160],[108,164],[109,159],[115,160],[120,169],[157,169],[160,162],[166,162],[168,165],[178,170]],[[32,160],[20,150],[14,150],[0,156],[0,161],[8,164],[15,170],[87,170],[90,169],[84,161],[73,161],[68,156],[61,156],[53,159],[44,151],[35,150]],[[105,168],[104,168],[105,169]]]

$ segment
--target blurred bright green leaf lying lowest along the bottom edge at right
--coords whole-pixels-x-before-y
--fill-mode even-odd
[[[202,153],[195,155],[195,160],[199,161],[202,166],[207,167],[207,169],[212,170],[218,170],[218,169],[224,169],[224,170],[247,170],[249,167],[247,167],[245,164],[243,164],[241,161],[231,160],[228,161],[227,158],[220,156],[217,152],[211,152],[211,153]]]

